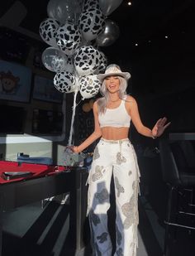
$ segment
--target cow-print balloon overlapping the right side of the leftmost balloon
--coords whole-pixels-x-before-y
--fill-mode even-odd
[[[73,23],[67,22],[56,31],[56,42],[59,49],[69,56],[74,54],[81,41],[81,32]]]

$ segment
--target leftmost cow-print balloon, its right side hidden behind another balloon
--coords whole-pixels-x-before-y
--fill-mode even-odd
[[[48,45],[56,46],[56,31],[59,28],[59,22],[54,18],[46,18],[40,23],[40,36]]]

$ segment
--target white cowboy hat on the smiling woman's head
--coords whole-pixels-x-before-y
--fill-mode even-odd
[[[121,68],[116,64],[111,64],[107,66],[107,69],[104,74],[97,75],[98,80],[103,81],[107,76],[110,75],[119,75],[126,80],[131,78],[131,74],[129,72],[122,72]]]

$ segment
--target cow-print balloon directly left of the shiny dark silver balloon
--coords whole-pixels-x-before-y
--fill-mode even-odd
[[[83,38],[87,41],[95,39],[103,31],[106,25],[102,11],[95,7],[82,12],[78,24]]]

